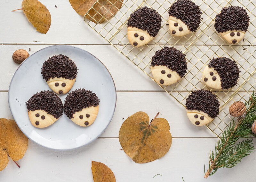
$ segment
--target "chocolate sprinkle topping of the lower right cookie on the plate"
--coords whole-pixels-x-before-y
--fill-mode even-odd
[[[82,111],[82,109],[90,106],[98,106],[100,99],[92,91],[85,89],[76,89],[68,94],[64,104],[64,113],[69,119],[73,118],[73,114]]]

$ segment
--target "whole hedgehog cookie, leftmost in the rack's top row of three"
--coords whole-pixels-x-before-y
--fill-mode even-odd
[[[151,8],[139,8],[128,19],[128,40],[135,46],[140,47],[152,40],[161,28],[161,16]]]

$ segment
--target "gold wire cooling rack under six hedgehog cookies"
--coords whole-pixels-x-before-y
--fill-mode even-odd
[[[119,0],[121,1],[121,0]],[[88,13],[84,21],[99,33],[111,45],[116,47],[123,55],[133,62],[139,69],[146,73],[152,80],[150,69],[151,58],[155,52],[164,46],[173,46],[186,54],[188,71],[177,83],[161,86],[167,93],[185,107],[186,98],[190,91],[209,89],[216,94],[220,101],[220,113],[211,123],[205,125],[215,135],[220,137],[222,131],[232,121],[228,115],[228,108],[234,102],[245,102],[256,88],[256,0],[192,0],[202,10],[202,22],[196,32],[183,37],[172,36],[168,26],[168,8],[175,0],[124,0],[120,10],[102,24],[92,22],[94,16]],[[115,8],[114,1],[97,0],[91,10],[99,12],[104,8],[100,4],[108,3]],[[100,5],[100,6],[99,6]],[[214,28],[214,18],[220,10],[228,5],[241,6],[246,9],[250,17],[250,25],[245,33],[244,40],[235,45],[229,45]],[[154,40],[141,47],[133,47],[127,38],[127,19],[130,14],[140,7],[151,7],[159,12],[162,17],[162,27]],[[96,8],[97,7],[97,8]],[[100,7],[100,8],[99,8]],[[106,10],[106,9],[105,9]],[[106,13],[111,13],[110,11]],[[86,17],[86,18],[85,18]],[[91,17],[87,19],[87,17]],[[214,90],[208,88],[202,81],[202,71],[213,57],[229,57],[238,64],[240,78],[238,84],[230,90]],[[156,83],[157,84],[157,83]]]

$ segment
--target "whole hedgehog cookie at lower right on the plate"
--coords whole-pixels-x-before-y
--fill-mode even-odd
[[[90,126],[97,117],[100,99],[92,91],[76,89],[68,94],[64,104],[64,113],[74,123]]]

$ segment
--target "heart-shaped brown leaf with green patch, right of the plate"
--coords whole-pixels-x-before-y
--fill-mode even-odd
[[[149,124],[148,114],[137,112],[127,118],[119,131],[124,152],[135,163],[147,163],[163,157],[171,147],[172,135],[166,119],[156,118]]]

